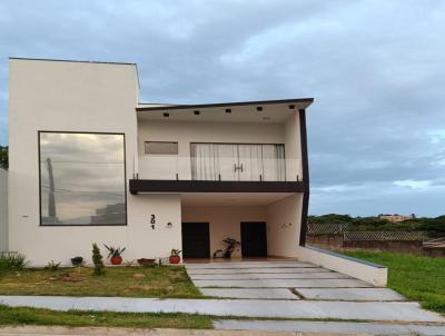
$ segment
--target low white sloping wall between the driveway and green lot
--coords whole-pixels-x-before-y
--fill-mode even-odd
[[[342,256],[328,250],[315,247],[297,248],[298,260],[336,270],[374,286],[385,287],[387,284],[388,269],[385,266]]]

